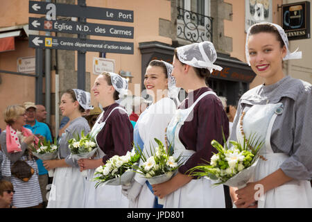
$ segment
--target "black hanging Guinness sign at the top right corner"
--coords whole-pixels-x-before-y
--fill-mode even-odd
[[[281,21],[288,40],[310,38],[310,2],[290,3],[281,6]]]

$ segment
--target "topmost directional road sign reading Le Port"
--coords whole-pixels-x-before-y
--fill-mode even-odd
[[[29,13],[48,15],[48,5],[55,5],[56,16],[85,17],[89,19],[103,19],[119,22],[133,22],[132,10],[119,10],[114,8],[98,8],[78,6],[62,3],[49,3],[44,1],[29,1]]]

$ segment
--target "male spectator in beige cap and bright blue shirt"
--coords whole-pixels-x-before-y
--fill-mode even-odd
[[[41,123],[37,121],[37,106],[35,103],[31,102],[26,102],[24,103],[24,108],[26,109],[26,125],[24,126],[25,128],[28,128],[35,134],[38,138],[40,139],[46,139],[46,141],[52,142],[52,136],[51,132],[49,129],[49,126],[46,125],[46,123]],[[42,120],[41,115],[40,119]],[[40,183],[40,189],[42,193],[42,200],[44,200],[44,207],[47,204],[46,200],[46,186],[48,185],[49,181],[49,176],[48,176],[48,171],[44,168],[42,164],[42,160],[38,159],[37,161],[37,166],[38,166],[38,171],[39,171],[39,183]]]

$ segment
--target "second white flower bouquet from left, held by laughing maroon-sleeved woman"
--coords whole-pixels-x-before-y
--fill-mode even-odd
[[[90,133],[85,135],[84,131],[81,135],[76,135],[76,137],[68,140],[68,148],[71,151],[70,157],[73,160],[80,160],[84,158],[90,158],[96,153],[98,146],[96,140]],[[81,174],[86,177],[87,171],[81,172]]]

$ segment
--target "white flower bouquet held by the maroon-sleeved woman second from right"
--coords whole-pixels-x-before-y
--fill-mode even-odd
[[[139,167],[134,166],[136,172],[146,178],[150,185],[157,185],[170,180],[182,165],[181,155],[177,158],[173,157],[171,147],[166,151],[164,144],[159,139],[154,139],[158,146],[153,149],[150,148],[149,157],[146,157],[140,149],[141,160],[144,163]],[[163,204],[161,198],[158,199],[158,203]]]

